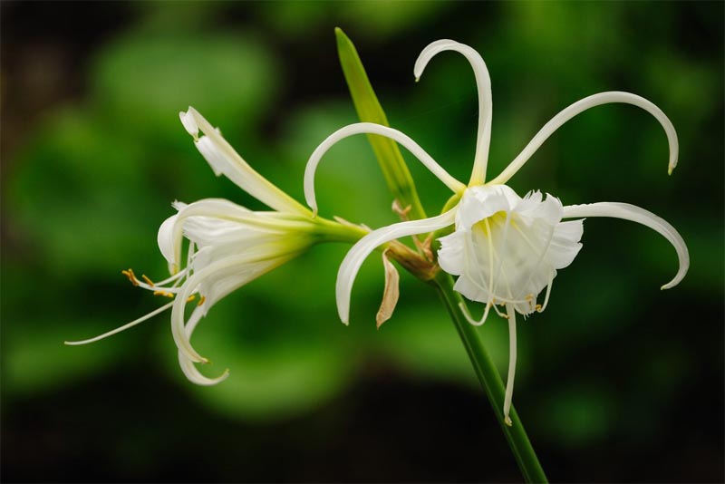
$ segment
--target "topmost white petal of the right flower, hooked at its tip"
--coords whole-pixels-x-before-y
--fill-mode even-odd
[[[476,140],[476,156],[473,159],[473,170],[470,175],[469,186],[480,185],[486,180],[486,166],[488,163],[488,145],[491,141],[491,115],[493,101],[491,96],[491,78],[488,68],[480,54],[465,44],[443,39],[429,44],[422,50],[415,61],[413,73],[416,82],[420,80],[426,65],[436,54],[443,51],[455,51],[463,54],[473,68],[478,86],[478,137]]]

